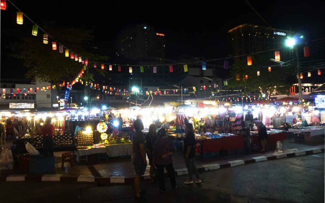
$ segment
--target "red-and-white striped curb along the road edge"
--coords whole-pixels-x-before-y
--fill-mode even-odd
[[[314,149],[308,151],[298,151],[294,153],[288,154],[271,154],[271,156],[259,156],[252,157],[251,159],[245,160],[233,160],[227,161],[224,164],[206,164],[198,167],[198,170],[203,171],[212,171],[223,168],[230,168],[235,166],[240,166],[244,164],[257,163],[260,161],[269,161],[283,158],[291,158],[291,157],[299,157],[305,155],[313,155],[318,153],[324,153],[325,149]],[[187,169],[175,169],[175,173],[177,176],[188,174]],[[149,179],[149,174],[144,174],[142,179]],[[94,177],[92,175],[62,175],[62,174],[13,174],[7,176],[0,176],[0,181],[53,181],[53,182],[62,182],[62,181],[70,181],[70,182],[89,182],[89,183],[112,183],[112,184],[121,184],[121,183],[133,183],[134,177],[125,177],[125,176],[110,176],[110,177]]]

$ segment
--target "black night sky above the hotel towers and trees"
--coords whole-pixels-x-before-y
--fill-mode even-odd
[[[99,0],[85,3],[20,0],[12,2],[38,24],[46,19],[55,20],[58,29],[59,25],[74,26],[74,22],[87,25],[89,29],[96,26],[92,46],[98,48],[96,52],[110,56],[111,60],[114,60],[118,33],[127,25],[147,23],[157,32],[164,33],[167,59],[172,60],[182,54],[205,57],[206,60],[222,58],[230,54],[227,51],[229,29],[244,23],[267,27],[245,1],[229,0],[222,1],[222,4],[217,1],[213,4],[210,1],[173,4],[167,1],[142,3]],[[273,28],[301,32],[306,36],[306,40],[323,38],[325,35],[325,15],[321,1],[249,2]],[[16,24],[17,11],[8,1],[7,10],[1,10],[1,78],[13,78],[13,68],[19,68],[19,77],[23,78],[24,69],[21,63],[8,57],[6,49],[11,40],[31,34],[32,23],[27,18],[24,17],[23,25]]]

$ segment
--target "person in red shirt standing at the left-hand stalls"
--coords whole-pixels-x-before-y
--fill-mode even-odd
[[[45,155],[45,156],[48,156],[49,153],[50,153],[50,156],[54,156],[53,155],[54,126],[52,125],[51,121],[52,121],[51,117],[46,117],[45,123],[43,124],[43,126],[41,128],[42,138],[43,138],[43,155]]]

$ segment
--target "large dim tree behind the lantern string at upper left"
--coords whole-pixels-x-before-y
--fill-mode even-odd
[[[78,56],[88,58],[88,65],[91,66],[91,61],[107,61],[108,56],[94,54],[86,50],[88,44],[92,42],[93,36],[90,29],[73,28],[73,27],[57,27],[52,26],[53,23],[43,26],[43,29],[48,32],[57,41],[57,50],[52,50],[52,41],[50,36],[48,44],[43,43],[43,32],[38,29],[37,36],[26,36],[20,38],[17,42],[11,44],[11,49],[14,51],[13,57],[23,60],[23,66],[27,68],[26,78],[41,81],[61,83],[63,80],[72,81],[76,78],[84,64],[81,64],[74,59],[65,57],[65,48],[63,53],[59,53],[59,43],[63,44],[70,50],[76,52]],[[104,74],[102,70],[97,70],[98,73]]]

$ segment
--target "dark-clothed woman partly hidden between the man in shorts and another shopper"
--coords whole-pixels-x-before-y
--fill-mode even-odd
[[[153,182],[153,169],[154,165],[152,164],[152,152],[153,152],[153,144],[157,140],[157,126],[155,124],[149,125],[149,133],[146,135],[146,145],[147,145],[147,155],[149,159],[149,165],[150,165],[150,183]]]

